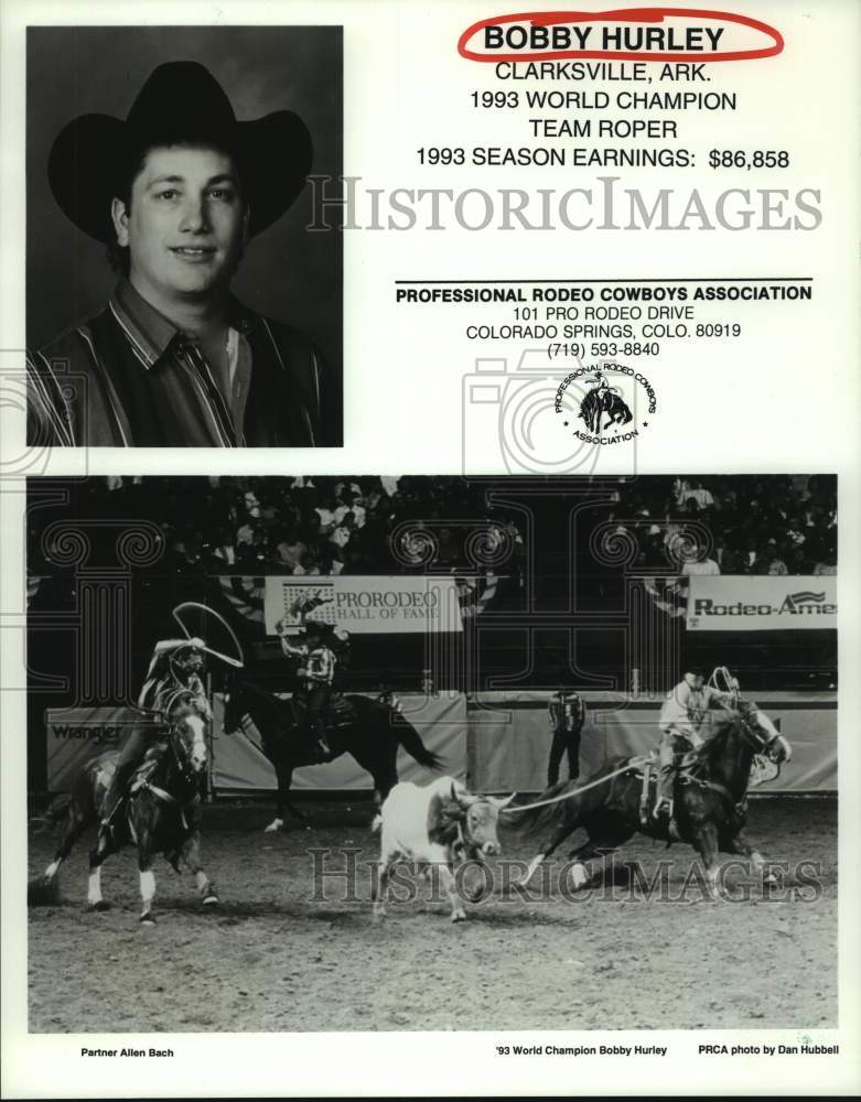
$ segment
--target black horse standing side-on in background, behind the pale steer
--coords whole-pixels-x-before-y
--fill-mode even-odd
[[[378,701],[366,696],[348,694],[345,698],[352,707],[352,715],[334,732],[329,742],[332,761],[342,754],[351,754],[363,769],[374,778],[374,801],[376,810],[398,782],[398,747],[411,755],[420,765],[429,769],[442,768],[442,759],[432,754],[419,733],[402,715]],[[278,808],[276,818],[266,828],[279,830],[284,824],[287,812],[300,815],[290,802],[290,785],[293,769],[303,765],[320,765],[315,739],[308,733],[305,710],[297,699],[282,700],[247,681],[228,685],[224,696],[224,731],[232,734],[241,727],[248,715],[260,733],[263,754],[275,766],[278,777]]]

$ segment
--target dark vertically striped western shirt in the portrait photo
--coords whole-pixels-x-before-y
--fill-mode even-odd
[[[230,392],[225,395],[200,345],[120,280],[101,314],[28,357],[28,443],[321,443],[322,366],[311,342],[236,300],[228,325]]]

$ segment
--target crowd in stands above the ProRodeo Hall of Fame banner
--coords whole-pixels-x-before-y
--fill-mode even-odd
[[[73,516],[155,521],[164,540],[158,569],[170,573],[502,571],[514,569],[523,542],[482,488],[456,477],[110,477],[74,493]],[[30,569],[39,573],[51,569],[52,549],[40,510],[31,518]]]

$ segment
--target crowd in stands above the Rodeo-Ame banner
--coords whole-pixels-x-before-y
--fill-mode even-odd
[[[611,520],[636,565],[686,574],[836,574],[831,475],[641,476],[621,482]]]

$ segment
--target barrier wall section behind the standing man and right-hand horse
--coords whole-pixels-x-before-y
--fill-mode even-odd
[[[623,703],[584,692],[586,723],[580,743],[581,776],[616,755],[642,754],[659,738],[660,701]],[[476,789],[540,791],[547,781],[552,733],[547,693],[483,693],[470,702],[470,778]],[[837,790],[837,694],[774,692],[756,698],[793,747],[793,760],[761,792]],[[562,760],[560,778],[567,774]]]

